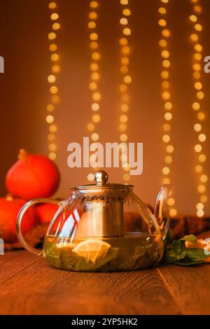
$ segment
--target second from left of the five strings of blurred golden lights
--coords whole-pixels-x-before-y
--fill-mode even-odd
[[[87,124],[87,131],[91,133],[92,141],[99,140],[99,133],[97,132],[97,123],[100,122],[101,116],[99,115],[101,93],[99,92],[99,35],[97,33],[97,10],[99,8],[98,1],[90,1],[90,13],[88,29],[90,29],[90,51],[91,51],[91,63],[90,63],[90,84],[89,89],[91,92],[92,103],[91,110],[93,111],[91,123]],[[98,170],[99,166],[97,162],[91,163],[94,170]],[[94,174],[87,174],[88,181],[94,181]]]

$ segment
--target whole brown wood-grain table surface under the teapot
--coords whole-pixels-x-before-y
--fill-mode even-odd
[[[67,272],[27,251],[0,255],[0,314],[210,314],[210,265]]]

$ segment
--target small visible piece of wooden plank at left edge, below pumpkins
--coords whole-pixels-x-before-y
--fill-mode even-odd
[[[6,251],[4,255],[0,255],[0,283],[17,274],[36,260],[37,257],[35,255],[31,255],[31,253],[23,250]]]

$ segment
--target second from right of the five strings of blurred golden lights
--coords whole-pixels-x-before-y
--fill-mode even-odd
[[[162,71],[161,71],[161,92],[162,99],[164,102],[164,120],[165,123],[162,126],[163,135],[162,141],[165,146],[165,165],[162,167],[162,174],[164,178],[162,180],[163,184],[170,184],[170,173],[171,173],[171,165],[173,162],[172,154],[174,153],[174,146],[172,145],[172,138],[170,136],[170,131],[172,129],[172,109],[173,104],[171,100],[171,92],[170,92],[170,82],[169,82],[169,68],[171,66],[171,62],[169,60],[170,53],[168,47],[168,40],[170,37],[170,31],[167,27],[167,7],[169,0],[160,0],[160,7],[158,8],[159,20],[158,25],[161,28],[161,38],[159,40],[160,52],[162,57]],[[170,216],[176,216],[177,211],[175,208],[175,199],[174,197],[169,197],[168,199],[169,205],[169,214]]]

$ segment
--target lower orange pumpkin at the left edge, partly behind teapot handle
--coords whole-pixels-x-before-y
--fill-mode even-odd
[[[11,244],[18,241],[16,233],[16,219],[20,209],[26,203],[25,200],[11,197],[0,197],[0,237],[5,243]],[[36,225],[34,209],[29,209],[22,218],[22,234],[25,235]]]

